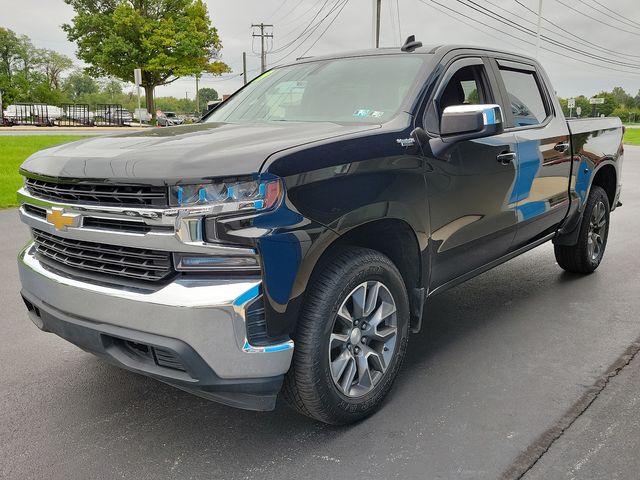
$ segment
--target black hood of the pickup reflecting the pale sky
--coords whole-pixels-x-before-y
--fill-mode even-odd
[[[379,125],[202,123],[95,137],[42,150],[22,169],[48,177],[164,184],[257,172],[272,154]]]

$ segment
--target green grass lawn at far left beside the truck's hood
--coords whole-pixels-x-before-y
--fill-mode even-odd
[[[32,153],[46,147],[80,140],[82,135],[0,136],[0,208],[16,207],[16,190],[22,184],[18,167]]]

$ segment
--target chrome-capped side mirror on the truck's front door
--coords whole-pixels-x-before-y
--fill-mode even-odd
[[[500,105],[454,105],[442,112],[440,137],[445,143],[498,135],[504,130]]]

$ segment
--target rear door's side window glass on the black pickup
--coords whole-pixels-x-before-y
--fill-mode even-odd
[[[535,72],[501,68],[500,74],[509,94],[515,126],[524,127],[542,123],[549,112]]]

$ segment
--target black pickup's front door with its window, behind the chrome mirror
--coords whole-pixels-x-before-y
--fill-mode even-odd
[[[495,104],[496,79],[479,57],[449,65],[425,116],[438,134],[442,111],[452,105]],[[437,157],[425,153],[431,220],[431,290],[508,253],[516,225],[511,192],[516,178],[513,133],[462,141]],[[506,158],[509,158],[507,156]]]

